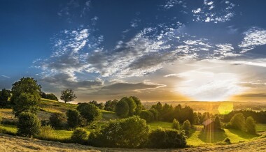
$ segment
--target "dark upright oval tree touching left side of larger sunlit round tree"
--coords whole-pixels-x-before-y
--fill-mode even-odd
[[[76,109],[67,110],[66,116],[67,116],[67,124],[69,125],[70,128],[77,128],[83,122],[80,113]]]

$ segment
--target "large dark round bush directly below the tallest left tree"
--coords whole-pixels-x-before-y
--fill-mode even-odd
[[[18,135],[32,137],[40,132],[41,122],[36,114],[22,112],[18,116]]]

